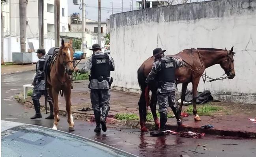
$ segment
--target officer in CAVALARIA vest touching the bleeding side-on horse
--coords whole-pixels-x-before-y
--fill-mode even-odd
[[[184,65],[182,59],[175,59],[173,57],[167,57],[164,55],[166,50],[156,48],[153,50],[155,56],[155,62],[151,72],[146,78],[146,83],[150,84],[154,80],[158,83],[157,89],[157,103],[159,105],[160,114],[160,130],[151,133],[152,136],[166,135],[168,132],[165,131],[165,124],[167,122],[167,104],[171,107],[174,115],[177,119],[177,124],[182,124],[178,104],[175,100],[175,92],[178,90],[176,86],[175,70]]]

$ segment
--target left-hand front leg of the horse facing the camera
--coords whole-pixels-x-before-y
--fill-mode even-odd
[[[54,102],[54,122],[53,122],[53,127],[52,129],[57,130],[57,126],[58,126],[58,121],[60,121],[59,118],[59,107],[58,107],[58,96],[59,96],[59,91],[56,91],[53,87],[52,87],[52,98],[53,98],[53,102]]]

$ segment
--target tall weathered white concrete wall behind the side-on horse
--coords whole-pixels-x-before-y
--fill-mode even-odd
[[[137,69],[161,47],[166,54],[187,48],[234,46],[234,79],[206,82],[215,98],[256,104],[256,0],[215,0],[167,7],[150,8],[110,17],[112,72],[116,89],[139,92]],[[206,69],[219,78],[219,65]],[[181,91],[181,85],[178,85]],[[191,85],[189,86],[191,89]],[[204,90],[202,79],[198,91]]]

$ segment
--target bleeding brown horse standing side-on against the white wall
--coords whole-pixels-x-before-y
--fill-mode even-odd
[[[170,55],[174,58],[183,59],[185,66],[176,69],[176,82],[182,83],[181,90],[181,104],[179,110],[181,113],[183,101],[185,100],[185,92],[187,90],[188,83],[192,83],[192,95],[193,95],[193,114],[194,120],[200,121],[199,115],[196,113],[196,91],[200,77],[203,75],[205,68],[219,64],[222,69],[224,69],[227,78],[233,79],[235,76],[234,69],[234,52],[233,47],[230,51],[214,48],[197,48],[188,49],[179,52],[176,55]],[[140,113],[140,126],[142,131],[147,131],[145,127],[147,107],[150,106],[152,115],[155,120],[157,127],[160,126],[156,114],[156,103],[157,103],[157,87],[154,84],[146,85],[145,80],[151,71],[152,65],[154,63],[155,57],[149,57],[138,69],[138,83],[140,85],[141,94],[140,100],[138,102],[139,113]],[[149,102],[149,90],[151,91],[151,99]]]

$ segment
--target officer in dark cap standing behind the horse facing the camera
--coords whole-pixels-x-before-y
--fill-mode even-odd
[[[32,116],[31,119],[36,118],[42,118],[41,112],[40,112],[40,102],[39,99],[42,95],[45,95],[45,72],[43,70],[45,65],[45,49],[37,49],[37,57],[39,61],[36,63],[36,74],[33,79],[32,85],[34,85],[33,93],[32,93],[32,100],[34,103],[34,107],[36,110],[36,115]],[[54,119],[53,116],[53,104],[52,99],[50,98],[49,94],[45,96],[47,99],[47,102],[49,102],[50,105],[50,115],[46,117],[45,119]]]

